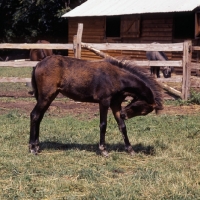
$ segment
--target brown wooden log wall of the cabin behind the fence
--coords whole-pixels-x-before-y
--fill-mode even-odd
[[[122,16],[123,17],[123,16]],[[130,23],[131,17],[133,21],[138,15],[128,15],[121,22]],[[127,19],[127,22],[125,20]],[[73,42],[73,36],[77,33],[77,24],[84,24],[82,41],[86,43],[175,43],[184,42],[184,39],[175,40],[173,38],[173,13],[163,14],[143,14],[140,15],[140,34],[139,37],[128,37],[123,34],[120,38],[106,38],[106,17],[77,17],[68,19],[68,41]],[[200,45],[199,40],[193,40],[193,45]],[[104,51],[113,57],[123,57],[126,59],[146,60],[144,51],[125,51],[125,50],[108,50]],[[192,60],[198,59],[197,52],[193,52]],[[70,57],[74,56],[72,50],[68,51]],[[181,52],[166,52],[169,60],[181,60]],[[200,56],[199,56],[200,57]],[[101,59],[93,52],[82,49],[81,58],[86,60]],[[176,74],[182,74],[181,68],[174,68]],[[192,74],[196,73],[192,70]]]

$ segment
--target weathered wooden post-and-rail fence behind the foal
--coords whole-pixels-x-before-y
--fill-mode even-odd
[[[9,44],[1,43],[0,49],[69,49],[74,50],[75,57],[81,58],[83,24],[78,24],[77,36],[74,37],[74,44]],[[182,91],[176,91],[177,95],[187,100],[190,94],[190,76],[192,51],[199,51],[200,47],[192,47],[190,40],[183,43],[172,44],[130,44],[130,43],[87,43],[87,45],[98,50],[140,50],[140,51],[169,51],[182,52],[183,59],[178,61],[134,61],[138,66],[175,66],[183,68],[183,76],[181,79],[176,78],[160,78],[161,82],[182,82]],[[6,61],[0,62],[0,67],[34,67],[35,61]],[[0,78],[0,82],[29,82],[30,78]]]

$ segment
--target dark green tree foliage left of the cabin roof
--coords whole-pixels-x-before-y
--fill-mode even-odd
[[[35,42],[36,38],[54,42],[62,38],[66,42],[67,19],[61,16],[70,10],[67,2],[1,0],[0,42]]]

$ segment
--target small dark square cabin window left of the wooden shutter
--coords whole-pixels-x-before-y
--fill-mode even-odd
[[[106,37],[120,37],[120,16],[106,17]]]

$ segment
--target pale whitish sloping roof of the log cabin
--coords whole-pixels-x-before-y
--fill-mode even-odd
[[[62,17],[187,12],[198,7],[200,0],[87,0]]]

